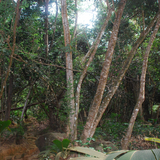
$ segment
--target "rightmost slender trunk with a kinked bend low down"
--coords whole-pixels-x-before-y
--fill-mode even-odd
[[[141,73],[141,79],[140,79],[140,91],[139,91],[139,97],[137,100],[137,103],[134,107],[130,122],[129,122],[129,126],[128,126],[128,130],[126,132],[124,141],[122,143],[122,149],[127,149],[128,148],[128,144],[129,144],[129,140],[132,134],[132,130],[133,130],[133,126],[137,117],[137,114],[140,110],[140,108],[142,107],[142,103],[144,102],[145,99],[145,79],[146,79],[146,71],[147,71],[147,63],[148,63],[148,57],[149,57],[149,53],[153,44],[153,41],[155,39],[155,36],[158,32],[160,26],[160,14],[158,16],[158,20],[157,20],[157,24],[154,28],[154,31],[151,35],[150,41],[148,43],[148,46],[146,48],[146,52],[144,55],[144,60],[143,60],[143,66],[142,66],[142,73]]]

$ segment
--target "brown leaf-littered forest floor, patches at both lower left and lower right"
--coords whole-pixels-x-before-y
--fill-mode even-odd
[[[10,131],[5,131],[0,137],[0,160],[40,160],[38,157],[39,149],[35,145],[35,140],[38,138],[40,133],[47,132],[49,126],[49,121],[38,122],[35,118],[30,117],[25,121],[25,132],[23,139],[19,142],[17,140],[14,130],[16,130],[17,125],[12,124],[10,126]],[[116,137],[113,139],[112,136],[105,135],[97,136],[101,134],[99,131],[95,133],[96,139],[100,138],[106,141],[111,141],[114,143],[118,149],[121,149],[120,143],[121,140]],[[133,134],[129,143],[129,149],[131,150],[142,150],[142,149],[155,149],[159,148],[156,143],[147,142],[144,140],[144,135],[142,134]],[[42,158],[45,160],[44,158]],[[50,157],[51,160],[54,160],[53,155]]]

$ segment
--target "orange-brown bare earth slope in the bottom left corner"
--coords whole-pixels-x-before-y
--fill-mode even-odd
[[[31,117],[25,121],[23,139],[17,140],[17,124],[11,124],[11,132],[5,131],[0,138],[0,160],[39,160],[39,149],[35,140],[41,131],[48,127],[48,121],[38,122]]]

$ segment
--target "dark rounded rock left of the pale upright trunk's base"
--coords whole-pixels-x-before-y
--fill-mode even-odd
[[[39,148],[40,152],[44,151],[47,149],[47,147],[53,145],[53,140],[58,139],[62,141],[64,138],[66,138],[65,133],[46,133],[41,135],[37,140],[36,140],[36,146]]]

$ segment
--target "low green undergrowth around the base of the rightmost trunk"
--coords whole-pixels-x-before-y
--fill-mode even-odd
[[[103,120],[104,121],[104,120]],[[125,136],[129,123],[117,122],[114,119],[107,119],[103,125],[96,128],[94,138],[97,140],[106,140],[113,142],[119,149],[121,149],[121,140]],[[83,131],[84,125],[78,125],[79,135]],[[160,125],[145,124],[141,121],[135,122],[132,137],[156,137],[160,138]],[[134,143],[134,142],[133,142]],[[136,143],[136,142],[135,142]],[[153,142],[150,142],[151,144]],[[132,144],[131,144],[132,145]],[[159,144],[157,145],[159,148]],[[134,146],[136,148],[136,145]],[[142,148],[143,149],[143,148]]]

